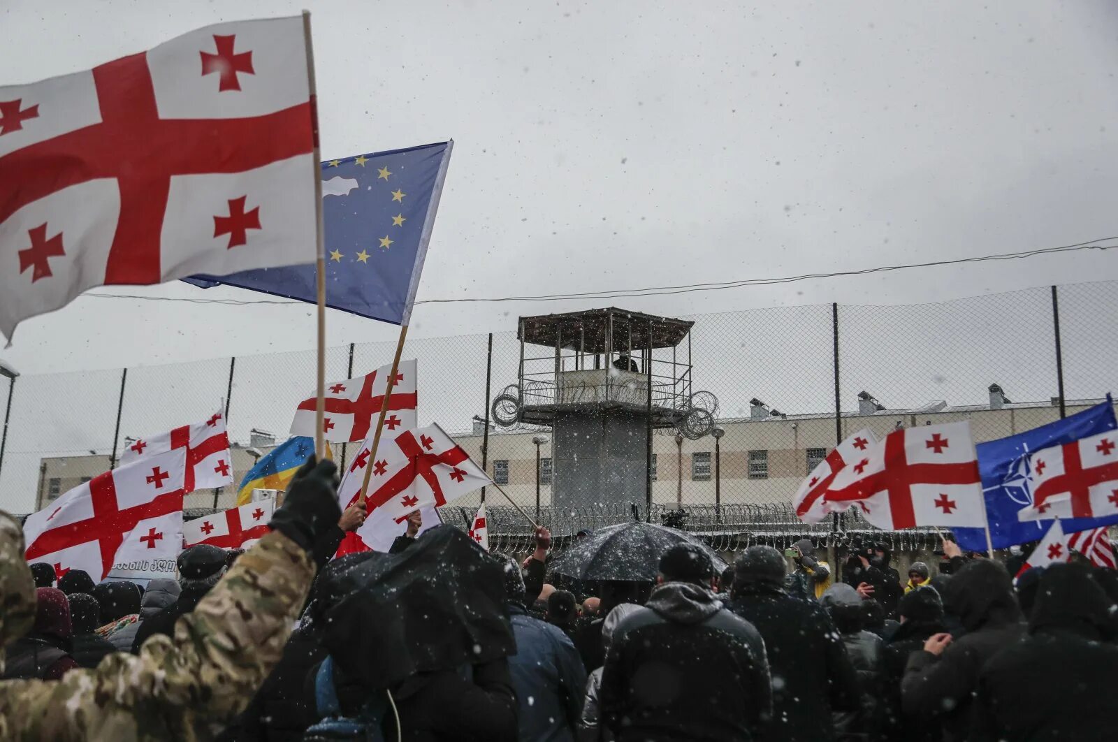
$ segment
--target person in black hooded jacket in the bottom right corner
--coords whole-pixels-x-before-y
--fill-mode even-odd
[[[1029,636],[983,668],[970,740],[1112,740],[1116,607],[1082,564],[1041,577]]]

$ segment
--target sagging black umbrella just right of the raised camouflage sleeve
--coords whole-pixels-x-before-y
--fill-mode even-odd
[[[398,554],[335,575],[322,644],[352,681],[394,686],[416,673],[517,653],[504,565],[473,539],[436,526]]]

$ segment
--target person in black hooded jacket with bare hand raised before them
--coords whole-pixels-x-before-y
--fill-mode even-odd
[[[909,656],[901,682],[907,715],[941,719],[945,742],[967,739],[972,697],[984,664],[1023,635],[1021,608],[1010,573],[998,562],[975,559],[947,583],[945,609],[966,634],[936,634]]]

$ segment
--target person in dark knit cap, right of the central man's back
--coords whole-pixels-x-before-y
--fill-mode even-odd
[[[785,592],[785,569],[776,549],[747,549],[735,563],[730,610],[765,640],[774,682],[764,739],[826,742],[834,739],[832,712],[859,707],[858,675],[826,611]]]

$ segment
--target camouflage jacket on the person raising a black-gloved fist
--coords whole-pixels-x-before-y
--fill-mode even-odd
[[[61,681],[0,682],[0,741],[212,739],[278,662],[313,577],[303,549],[265,535],[179,619],[173,639],[152,637],[139,655],[111,654]],[[34,618],[23,536],[0,512],[0,646]]]

